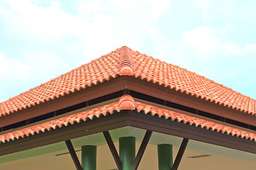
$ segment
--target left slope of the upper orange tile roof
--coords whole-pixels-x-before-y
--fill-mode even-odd
[[[59,98],[118,75],[119,50],[0,103],[0,116]]]

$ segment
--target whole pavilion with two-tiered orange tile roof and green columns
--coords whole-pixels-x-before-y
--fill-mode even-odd
[[[256,101],[121,47],[0,103],[0,169],[253,169]]]

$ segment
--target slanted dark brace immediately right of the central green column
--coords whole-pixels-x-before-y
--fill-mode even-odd
[[[142,144],[140,145],[137,156],[135,157],[134,163],[132,164],[132,170],[137,170],[137,168],[139,166],[139,162],[141,162],[141,160],[142,160],[142,156],[145,152],[146,146],[149,143],[149,139],[150,139],[151,135],[152,135],[152,131],[146,130],[146,134],[144,135]]]

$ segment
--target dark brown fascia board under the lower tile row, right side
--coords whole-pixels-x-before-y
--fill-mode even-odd
[[[256,154],[255,141],[227,135],[226,133],[223,134],[222,132],[216,132],[210,129],[207,130],[206,128],[202,129],[200,126],[191,126],[184,123],[178,123],[177,121],[166,120],[165,118],[137,113],[136,111],[130,112],[131,113],[129,113],[128,117],[128,126]]]

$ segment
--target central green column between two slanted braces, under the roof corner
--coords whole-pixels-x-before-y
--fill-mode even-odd
[[[119,138],[119,157],[123,164],[123,170],[132,170],[135,159],[135,137]]]

